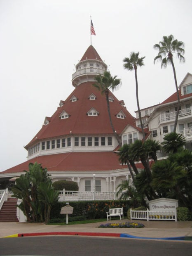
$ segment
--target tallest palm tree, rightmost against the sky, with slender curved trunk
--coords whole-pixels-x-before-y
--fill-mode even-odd
[[[171,64],[173,68],[173,74],[174,74],[174,80],[176,85],[176,92],[177,92],[177,98],[178,98],[178,107],[176,112],[176,119],[175,124],[173,128],[173,132],[176,132],[176,126],[178,121],[178,115],[179,115],[179,108],[180,108],[180,99],[179,99],[179,92],[178,92],[178,85],[177,85],[177,78],[176,78],[176,70],[173,63],[173,53],[177,54],[177,57],[179,58],[180,62],[185,62],[185,58],[182,54],[185,53],[185,50],[183,49],[184,43],[182,41],[178,41],[174,38],[174,36],[164,36],[163,40],[159,42],[159,44],[155,44],[154,49],[159,50],[158,55],[154,59],[154,64],[156,60],[161,60],[161,67],[166,68],[168,64]]]

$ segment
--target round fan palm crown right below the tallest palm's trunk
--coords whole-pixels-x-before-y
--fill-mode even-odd
[[[164,136],[164,142],[162,142],[163,150],[166,153],[176,153],[185,146],[186,140],[182,134],[168,133]]]

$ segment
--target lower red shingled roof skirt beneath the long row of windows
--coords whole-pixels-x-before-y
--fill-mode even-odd
[[[112,152],[69,152],[37,156],[29,161],[7,169],[3,173],[18,173],[28,170],[29,163],[40,163],[48,171],[110,171],[124,169],[119,156]]]

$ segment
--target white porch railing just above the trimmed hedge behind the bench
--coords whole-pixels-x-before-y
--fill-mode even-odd
[[[115,192],[59,191],[59,201],[114,200]]]

